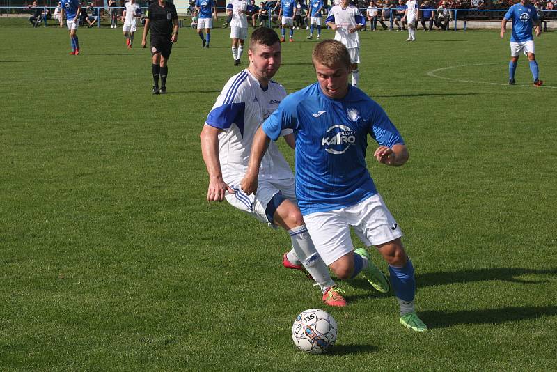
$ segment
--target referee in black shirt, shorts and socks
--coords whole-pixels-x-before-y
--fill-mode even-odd
[[[141,46],[147,45],[147,33],[151,29],[152,87],[153,94],[166,93],[166,76],[168,59],[172,43],[178,41],[178,14],[173,3],[164,0],[153,1],[149,5]],[[159,75],[161,88],[159,89]]]

